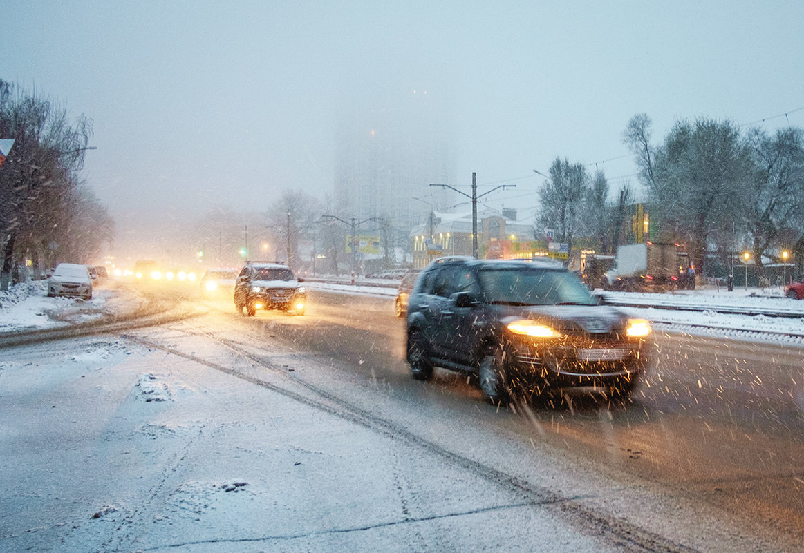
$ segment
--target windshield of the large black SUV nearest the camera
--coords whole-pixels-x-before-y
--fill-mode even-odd
[[[484,267],[479,271],[486,303],[507,305],[594,305],[575,274],[539,268]]]

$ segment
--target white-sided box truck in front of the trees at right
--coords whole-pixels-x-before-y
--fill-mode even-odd
[[[606,272],[604,287],[621,291],[693,290],[695,268],[678,244],[626,244],[617,248],[615,266]]]

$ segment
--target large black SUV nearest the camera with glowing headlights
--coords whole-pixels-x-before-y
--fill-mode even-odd
[[[644,372],[650,325],[602,305],[574,273],[545,261],[441,258],[408,299],[412,376],[468,372],[492,403],[561,388],[625,399]]]

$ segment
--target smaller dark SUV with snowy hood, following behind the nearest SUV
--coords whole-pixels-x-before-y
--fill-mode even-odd
[[[235,282],[235,307],[248,316],[258,309],[280,309],[304,315],[307,292],[289,266],[273,262],[249,261]]]

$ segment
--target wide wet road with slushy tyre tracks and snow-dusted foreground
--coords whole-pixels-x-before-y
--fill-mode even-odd
[[[205,307],[0,352],[0,551],[801,543],[800,349],[667,335],[627,409],[511,413],[410,379],[385,300]]]

